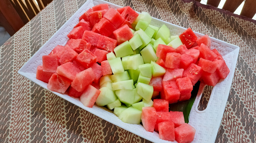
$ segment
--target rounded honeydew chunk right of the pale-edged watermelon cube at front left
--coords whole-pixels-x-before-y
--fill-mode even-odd
[[[107,87],[102,87],[99,90],[100,90],[100,93],[98,98],[96,99],[96,104],[98,106],[105,106],[117,100],[117,96],[113,90]]]

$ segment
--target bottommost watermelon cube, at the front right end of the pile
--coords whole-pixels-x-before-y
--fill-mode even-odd
[[[175,128],[174,132],[176,141],[178,141],[179,143],[188,143],[193,141],[196,129],[189,124],[184,123],[179,127]]]

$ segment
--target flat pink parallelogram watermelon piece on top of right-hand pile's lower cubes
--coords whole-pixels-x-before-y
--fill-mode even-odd
[[[167,69],[163,81],[176,81],[177,78],[183,77],[184,69]]]

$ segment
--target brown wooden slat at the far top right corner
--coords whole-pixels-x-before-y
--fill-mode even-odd
[[[253,18],[256,13],[256,1],[255,0],[245,0],[245,5],[241,11],[242,16]]]

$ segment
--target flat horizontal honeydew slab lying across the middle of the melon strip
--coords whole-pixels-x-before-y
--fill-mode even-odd
[[[134,89],[133,80],[125,80],[125,81],[118,81],[112,83],[113,90],[120,90],[120,89]]]

